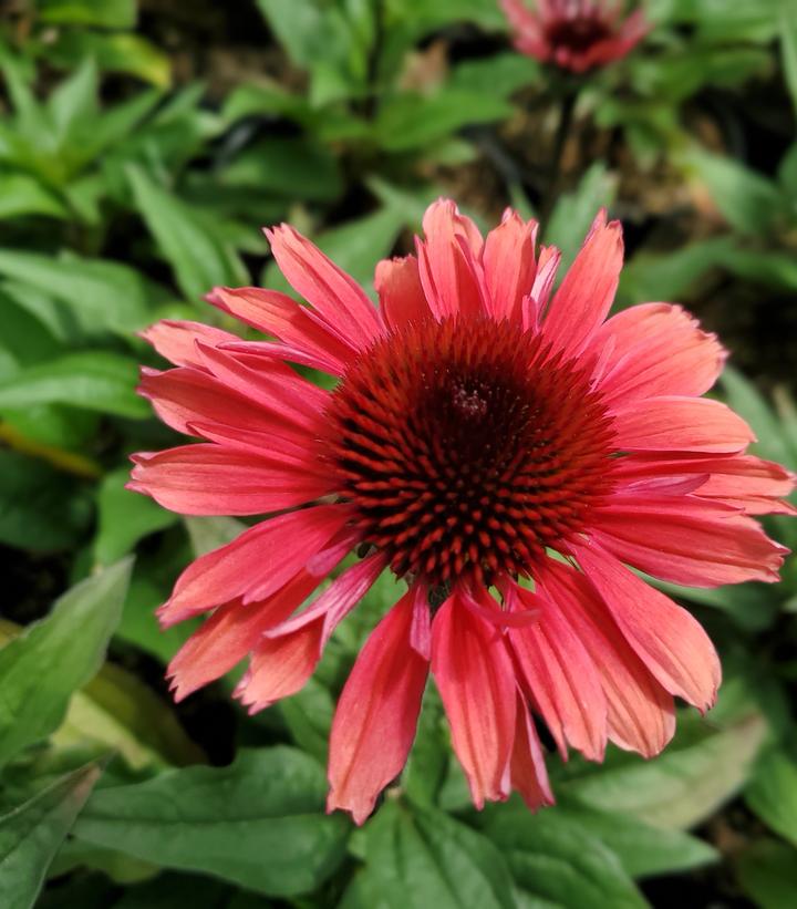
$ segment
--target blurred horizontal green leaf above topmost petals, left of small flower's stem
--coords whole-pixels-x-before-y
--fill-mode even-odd
[[[408,152],[463,126],[506,120],[513,106],[485,91],[443,89],[434,95],[404,93],[387,99],[376,118],[376,141],[389,152]]]

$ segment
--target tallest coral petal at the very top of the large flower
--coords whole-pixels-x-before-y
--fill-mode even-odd
[[[443,319],[486,311],[483,276],[476,267],[482,238],[469,218],[449,199],[426,209],[425,241],[418,241],[421,283],[433,313]]]

